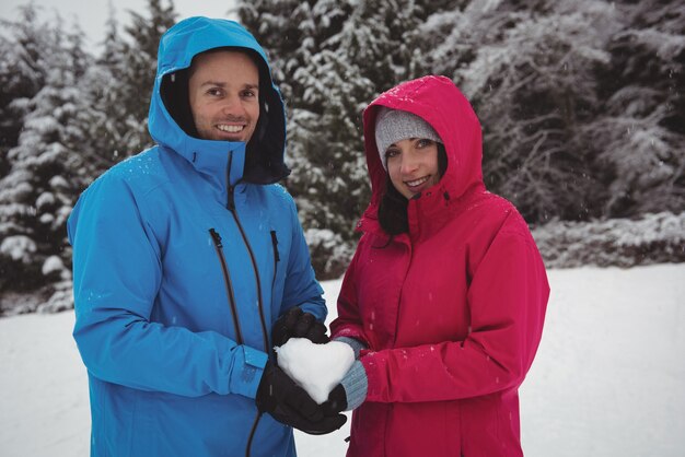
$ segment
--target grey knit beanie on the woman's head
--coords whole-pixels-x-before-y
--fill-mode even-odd
[[[436,130],[419,116],[382,106],[375,117],[375,144],[379,148],[381,163],[385,171],[387,171],[387,163],[385,161],[385,151],[387,148],[397,141],[408,138],[425,138],[442,143]]]

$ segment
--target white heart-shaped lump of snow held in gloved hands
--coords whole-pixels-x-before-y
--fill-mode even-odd
[[[314,344],[305,338],[291,338],[275,351],[278,366],[318,405],[328,399],[330,390],[355,363],[355,351],[340,341]]]

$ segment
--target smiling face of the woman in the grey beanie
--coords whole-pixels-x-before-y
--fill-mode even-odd
[[[397,141],[385,151],[393,186],[407,199],[440,180],[438,143],[422,138]]]

